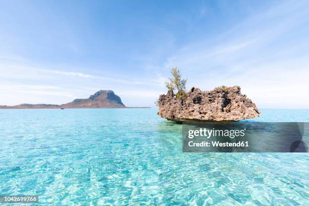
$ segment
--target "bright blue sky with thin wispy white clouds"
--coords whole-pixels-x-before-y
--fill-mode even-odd
[[[308,108],[308,34],[308,1],[0,1],[0,105],[112,89],[152,107],[177,66],[188,89]]]

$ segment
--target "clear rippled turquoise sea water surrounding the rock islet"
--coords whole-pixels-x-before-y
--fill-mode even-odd
[[[308,205],[307,153],[182,153],[156,109],[0,110],[0,194],[48,205]],[[309,122],[309,110],[262,110]]]

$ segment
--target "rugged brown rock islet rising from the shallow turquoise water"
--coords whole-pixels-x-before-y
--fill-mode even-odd
[[[172,91],[159,97],[158,115],[174,121],[238,121],[259,117],[251,99],[240,93],[239,86],[217,87],[201,91],[192,87],[186,100],[176,98]]]

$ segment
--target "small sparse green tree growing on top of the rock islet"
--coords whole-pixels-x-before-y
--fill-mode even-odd
[[[185,100],[186,99],[186,83],[187,79],[181,79],[181,74],[177,67],[171,70],[172,78],[169,78],[169,81],[165,82],[165,86],[173,91],[177,89],[176,97],[178,99]]]

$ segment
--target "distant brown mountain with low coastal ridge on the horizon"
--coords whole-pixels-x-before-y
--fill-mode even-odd
[[[0,106],[0,109],[53,109],[53,108],[126,108],[121,98],[112,90],[99,90],[86,99],[74,99],[63,105],[21,104],[16,106]]]

